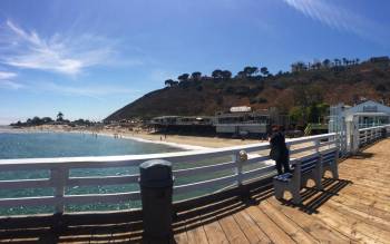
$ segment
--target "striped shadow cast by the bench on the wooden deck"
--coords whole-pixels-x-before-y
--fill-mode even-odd
[[[318,214],[318,208],[326,203],[331,197],[338,196],[339,192],[353,184],[347,179],[324,178],[322,180],[323,189],[316,189],[315,187],[305,187],[301,194],[302,204],[293,204],[291,201],[281,201],[285,206],[298,207],[298,209],[306,214]]]

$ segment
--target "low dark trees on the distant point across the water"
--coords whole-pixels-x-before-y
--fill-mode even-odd
[[[17,126],[17,127],[28,127],[28,126],[41,126],[41,125],[53,125],[53,124],[60,124],[60,125],[70,125],[70,126],[89,126],[92,123],[89,121],[88,119],[77,119],[74,121],[70,121],[68,119],[64,118],[64,114],[61,111],[59,111],[57,114],[57,118],[56,120],[50,118],[50,117],[38,117],[35,116],[33,118],[28,118],[26,121],[17,121],[11,124],[10,126]]]

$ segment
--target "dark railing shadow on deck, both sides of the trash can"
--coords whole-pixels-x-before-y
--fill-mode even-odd
[[[214,222],[273,195],[271,178],[177,203],[174,234]],[[196,207],[194,207],[196,206]],[[140,211],[32,215],[0,218],[0,242],[143,242]]]

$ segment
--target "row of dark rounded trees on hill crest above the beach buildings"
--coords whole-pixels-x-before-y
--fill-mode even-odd
[[[214,80],[214,81],[221,81],[221,80],[231,80],[231,79],[251,79],[251,80],[261,80],[264,77],[270,77],[272,74],[269,71],[266,67],[254,67],[254,66],[246,66],[243,70],[238,71],[234,77],[232,71],[224,70],[224,69],[215,69],[211,76],[203,75],[201,71],[195,71],[189,74],[182,74],[177,77],[177,80],[174,79],[167,79],[165,80],[166,87],[176,87],[185,85],[189,81],[205,81],[205,80]]]

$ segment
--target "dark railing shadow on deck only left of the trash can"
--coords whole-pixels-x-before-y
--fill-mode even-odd
[[[32,215],[0,219],[0,241],[10,243],[113,242],[140,238],[139,212]]]

